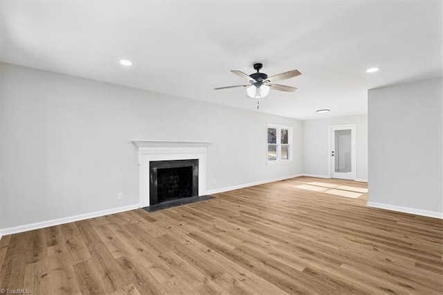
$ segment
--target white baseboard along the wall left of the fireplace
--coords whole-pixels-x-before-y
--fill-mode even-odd
[[[44,222],[35,222],[35,223],[31,223],[31,224],[24,224],[24,225],[19,225],[19,226],[8,227],[6,229],[0,229],[0,236],[11,235],[12,233],[22,233],[24,231],[32,231],[33,229],[43,229],[44,227],[65,224],[65,223],[69,223],[69,222],[76,222],[79,220],[87,220],[87,219],[93,218],[93,217],[100,217],[100,216],[104,216],[104,215],[120,213],[120,212],[124,212],[124,211],[134,210],[136,208],[140,208],[139,204],[118,207],[118,208],[112,208],[112,209],[108,209],[108,210],[91,212],[91,213],[86,213],[86,214],[74,215],[74,216],[70,216],[70,217],[63,217],[63,218],[58,218],[56,220],[47,220]]]

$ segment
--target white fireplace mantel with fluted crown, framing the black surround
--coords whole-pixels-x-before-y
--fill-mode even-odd
[[[150,206],[150,161],[199,160],[199,195],[206,195],[208,141],[132,141],[138,150],[140,207]]]

